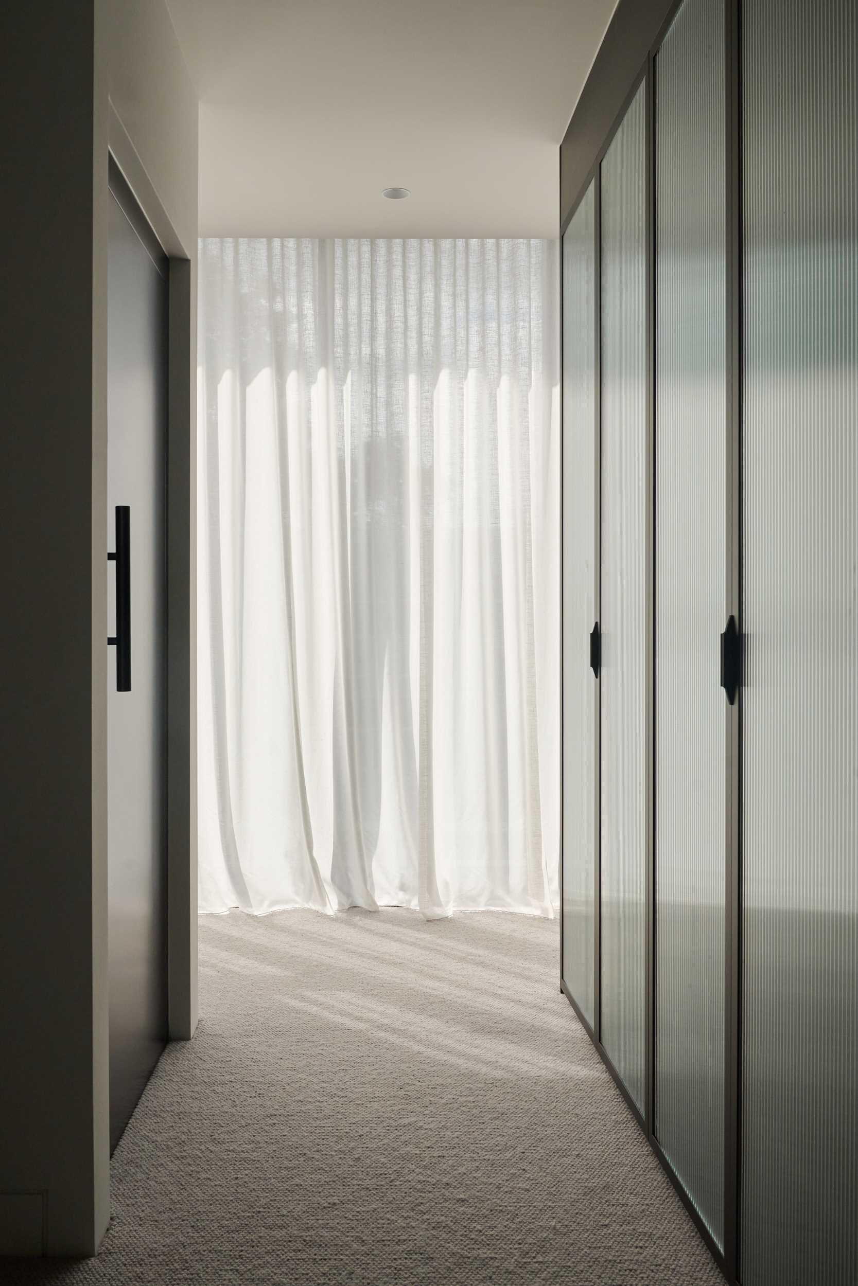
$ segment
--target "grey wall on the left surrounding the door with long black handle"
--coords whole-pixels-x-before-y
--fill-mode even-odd
[[[0,1253],[91,1254],[109,1215],[108,138],[136,165],[166,248],[190,261],[175,265],[185,302],[178,289],[170,394],[171,477],[185,487],[170,511],[183,604],[170,640],[171,1028],[189,1035],[197,108],[162,0],[4,5],[0,48]]]

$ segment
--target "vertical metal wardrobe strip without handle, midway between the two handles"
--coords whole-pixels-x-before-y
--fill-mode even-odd
[[[647,454],[646,454],[646,1066],[644,1119],[647,1134],[655,1134],[655,54],[647,59],[646,73],[646,202],[647,202]]]

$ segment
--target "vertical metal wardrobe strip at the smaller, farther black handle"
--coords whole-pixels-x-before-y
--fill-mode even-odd
[[[594,220],[593,220],[593,243],[594,243],[594,356],[596,356],[596,414],[594,414],[594,432],[596,432],[596,539],[594,539],[594,568],[596,575],[593,577],[593,611],[594,620],[602,621],[602,163],[599,161],[596,167],[596,174],[593,176],[594,186]],[[596,712],[594,712],[594,732],[596,738],[596,772],[594,772],[594,800],[593,808],[596,809],[596,844],[593,847],[593,892],[594,892],[594,916],[593,916],[593,950],[594,950],[594,963],[593,963],[593,1029],[596,1039],[602,1039],[602,667],[599,666],[599,673],[596,678]]]

